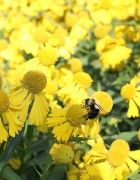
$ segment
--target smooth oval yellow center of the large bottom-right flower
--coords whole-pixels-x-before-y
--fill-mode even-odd
[[[129,153],[129,145],[124,140],[116,140],[111,144],[107,159],[112,166],[120,166],[125,163]]]

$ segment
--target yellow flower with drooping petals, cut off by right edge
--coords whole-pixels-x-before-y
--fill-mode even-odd
[[[140,108],[140,77],[134,77],[130,83],[124,85],[121,89],[121,96],[128,102],[129,107],[127,111],[128,117],[139,117]]]

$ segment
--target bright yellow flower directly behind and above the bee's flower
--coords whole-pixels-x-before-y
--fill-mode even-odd
[[[88,97],[86,89],[90,87],[92,78],[84,72],[73,74],[71,71],[61,69],[59,79],[60,90],[57,95],[66,103],[81,104]]]

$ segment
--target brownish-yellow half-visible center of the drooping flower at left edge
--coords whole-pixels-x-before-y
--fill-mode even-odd
[[[9,108],[9,99],[5,92],[0,90],[0,114]]]

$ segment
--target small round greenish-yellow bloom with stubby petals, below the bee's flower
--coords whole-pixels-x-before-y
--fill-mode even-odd
[[[50,150],[52,159],[59,164],[68,164],[74,158],[74,151],[72,147],[66,144],[54,144]]]

